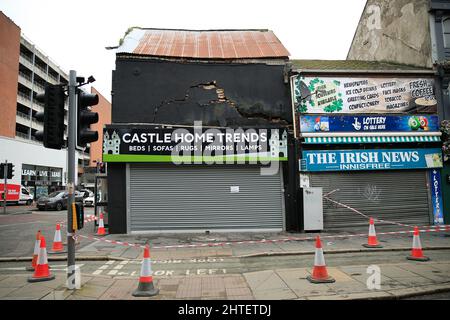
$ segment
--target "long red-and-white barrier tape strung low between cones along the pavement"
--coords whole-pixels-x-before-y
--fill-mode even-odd
[[[423,226],[426,229],[419,229],[419,232],[442,232],[442,231],[450,231],[450,225],[442,225],[442,226]],[[379,232],[377,235],[393,235],[393,234],[409,234],[413,233],[414,230],[403,230],[403,231],[388,231],[388,232]],[[321,236],[321,239],[338,239],[338,238],[354,238],[354,237],[367,237],[367,233],[358,233],[358,234],[343,234],[343,235],[329,235],[329,236]],[[92,241],[103,241],[106,243],[117,244],[127,247],[136,247],[144,249],[144,245],[122,242],[117,240],[108,240],[105,238],[97,238],[94,236],[84,236],[84,235],[76,235],[76,238],[85,238]],[[315,240],[316,237],[287,237],[282,239],[262,239],[262,240],[246,240],[246,241],[229,241],[229,242],[215,242],[215,243],[201,243],[201,244],[183,244],[183,245],[173,245],[173,246],[154,246],[152,249],[174,249],[174,248],[201,248],[201,247],[218,247],[218,246],[226,246],[226,245],[236,245],[236,244],[256,244],[256,243],[274,243],[274,242],[287,242],[287,241],[308,241]]]

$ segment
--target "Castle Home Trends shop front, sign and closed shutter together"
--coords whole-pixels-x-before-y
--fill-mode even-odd
[[[125,169],[127,233],[285,229],[285,129],[111,125],[103,152]]]

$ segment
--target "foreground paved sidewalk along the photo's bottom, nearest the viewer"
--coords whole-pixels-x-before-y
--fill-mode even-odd
[[[28,283],[29,275],[1,275],[0,299],[31,300],[349,300],[398,299],[417,293],[450,290],[450,261],[379,265],[381,288],[369,290],[367,266],[328,268],[331,284],[311,284],[310,268],[264,270],[243,275],[177,276],[156,278],[157,296],[135,298],[137,277],[82,275],[79,290],[65,288],[65,272],[52,281]]]

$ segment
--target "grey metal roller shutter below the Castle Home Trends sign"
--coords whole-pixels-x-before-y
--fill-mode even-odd
[[[283,228],[281,172],[130,164],[129,184],[131,232]]]

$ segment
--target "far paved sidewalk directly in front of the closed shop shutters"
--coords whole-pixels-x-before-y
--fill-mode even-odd
[[[128,242],[133,244],[150,244],[152,258],[188,259],[206,257],[251,257],[261,255],[287,255],[287,254],[312,254],[315,247],[315,236],[322,238],[324,251],[327,253],[345,252],[371,252],[371,251],[395,251],[411,250],[412,233],[382,235],[384,232],[411,230],[407,228],[384,227],[377,228],[378,240],[383,246],[379,249],[367,249],[362,246],[367,242],[367,230],[355,230],[353,232],[328,232],[328,233],[229,233],[229,234],[193,234],[193,235],[164,235],[164,236],[139,236],[139,235],[108,235],[104,239]],[[355,236],[361,234],[362,236]],[[337,236],[333,238],[334,236]],[[263,240],[283,240],[288,238],[309,238],[299,241],[275,241],[263,242]],[[420,234],[424,250],[438,248],[450,249],[450,231],[423,232]],[[87,239],[81,239],[86,243]],[[234,244],[215,245],[223,242],[239,242]],[[251,243],[250,241],[254,241]],[[212,246],[203,246],[211,244]],[[175,248],[172,246],[189,246]],[[164,248],[168,247],[168,248]],[[77,251],[81,256],[106,256],[113,259],[141,259],[143,250],[136,247],[115,245],[103,241],[90,241]]]

